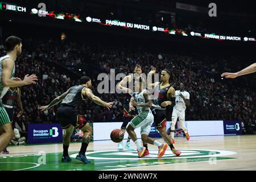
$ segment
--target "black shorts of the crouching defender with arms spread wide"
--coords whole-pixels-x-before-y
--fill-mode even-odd
[[[76,108],[72,106],[60,106],[57,109],[57,121],[63,129],[73,125],[76,129],[81,129],[87,121],[84,116],[80,115]]]

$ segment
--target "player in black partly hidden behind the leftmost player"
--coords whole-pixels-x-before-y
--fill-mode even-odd
[[[5,110],[11,122],[13,122],[13,117],[14,117],[15,101],[17,102],[20,110],[17,117],[19,118],[23,113],[23,106],[22,106],[22,101],[20,99],[20,96],[21,96],[20,89],[18,87],[11,87],[6,92],[5,96],[3,96],[2,98],[2,105],[5,107]],[[7,150],[7,148],[3,150],[3,154],[9,154],[9,151]]]

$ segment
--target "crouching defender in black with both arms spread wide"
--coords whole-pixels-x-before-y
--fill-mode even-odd
[[[56,97],[53,101],[51,101],[49,105],[40,107],[40,110],[44,111],[61,102],[60,107],[57,109],[57,119],[59,120],[61,127],[66,131],[63,139],[62,162],[71,162],[71,158],[68,155],[68,147],[70,137],[75,127],[76,129],[80,129],[82,132],[84,132],[81,149],[79,154],[76,156],[76,159],[81,160],[84,163],[90,163],[90,160],[88,160],[85,156],[85,152],[90,139],[92,138],[93,131],[86,119],[78,113],[76,109],[77,106],[79,106],[79,104],[81,104],[81,102],[87,98],[93,101],[95,104],[104,106],[107,109],[110,109],[113,106],[113,102],[104,102],[97,96],[94,96],[92,90],[90,90],[91,87],[92,84],[90,78],[87,76],[82,76],[80,78],[80,85],[72,86],[67,90],[67,92],[61,94],[61,96]]]

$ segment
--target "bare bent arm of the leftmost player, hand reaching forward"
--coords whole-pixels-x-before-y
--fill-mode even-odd
[[[5,87],[16,87],[16,86],[23,86],[29,84],[36,84],[37,77],[35,75],[26,75],[24,80],[12,80],[11,72],[14,68],[14,60],[10,58],[6,58],[2,60],[2,84]]]

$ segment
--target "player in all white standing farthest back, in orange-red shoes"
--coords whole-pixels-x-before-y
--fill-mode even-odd
[[[184,84],[180,83],[180,90],[175,91],[175,106],[174,110],[172,111],[172,125],[171,125],[171,139],[172,143],[175,143],[174,140],[174,131],[175,131],[175,124],[177,122],[177,118],[179,118],[181,129],[183,129],[187,140],[189,140],[188,130],[185,127],[185,110],[187,106],[190,105],[189,102],[189,93],[184,90]]]

